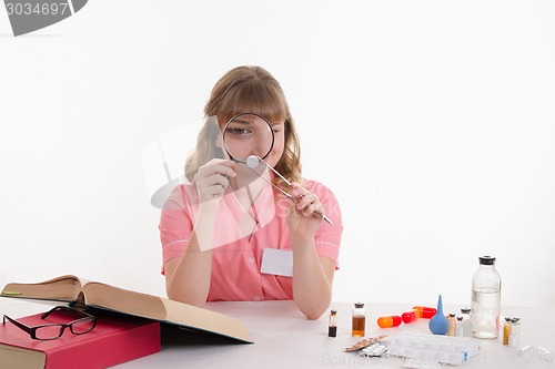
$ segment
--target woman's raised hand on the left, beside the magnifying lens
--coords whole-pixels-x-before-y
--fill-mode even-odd
[[[221,198],[230,185],[228,177],[234,177],[234,163],[226,158],[213,158],[199,168],[194,175],[194,187],[202,203]]]

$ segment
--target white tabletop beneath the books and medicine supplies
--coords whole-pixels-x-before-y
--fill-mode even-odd
[[[13,318],[44,311],[51,305],[0,298],[0,314]],[[343,349],[361,338],[351,336],[352,303],[334,303],[337,310],[337,337],[327,337],[327,312],[319,320],[307,320],[293,301],[211,303],[206,308],[241,319],[249,329],[252,345],[206,344],[189,339],[164,342],[162,351],[117,368],[403,368],[397,357],[364,358]],[[373,305],[366,301],[366,336],[403,332],[428,334],[427,319],[402,324],[396,328],[377,327],[380,316],[401,315],[408,305]],[[444,312],[458,312],[458,306],[445,306]],[[521,347],[542,346],[555,352],[555,307],[503,307],[502,315],[522,321]],[[503,346],[501,339],[477,340],[481,353],[461,368],[555,368],[554,361],[536,357],[523,359],[517,349]],[[453,367],[455,368],[455,367]]]

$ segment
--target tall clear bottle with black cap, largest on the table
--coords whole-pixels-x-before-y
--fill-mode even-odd
[[[501,277],[495,257],[480,257],[480,267],[472,277],[472,336],[497,338],[500,331]]]

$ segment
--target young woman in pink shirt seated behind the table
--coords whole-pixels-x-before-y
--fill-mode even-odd
[[[174,188],[161,215],[169,298],[195,306],[294,299],[309,319],[317,319],[332,298],[342,218],[333,193],[301,175],[299,139],[280,84],[260,66],[235,68],[216,82],[204,113],[185,163],[191,185]],[[264,162],[292,186],[263,165],[253,171],[230,157],[223,129],[241,113],[270,123],[274,142]],[[272,267],[291,262],[292,273]]]

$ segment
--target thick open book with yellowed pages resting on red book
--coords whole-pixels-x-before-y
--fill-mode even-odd
[[[78,277],[71,275],[38,284],[11,283],[6,285],[0,296],[85,305],[158,320],[161,324],[186,330],[198,330],[241,342],[251,342],[243,322],[233,317],[98,281],[81,284]]]

